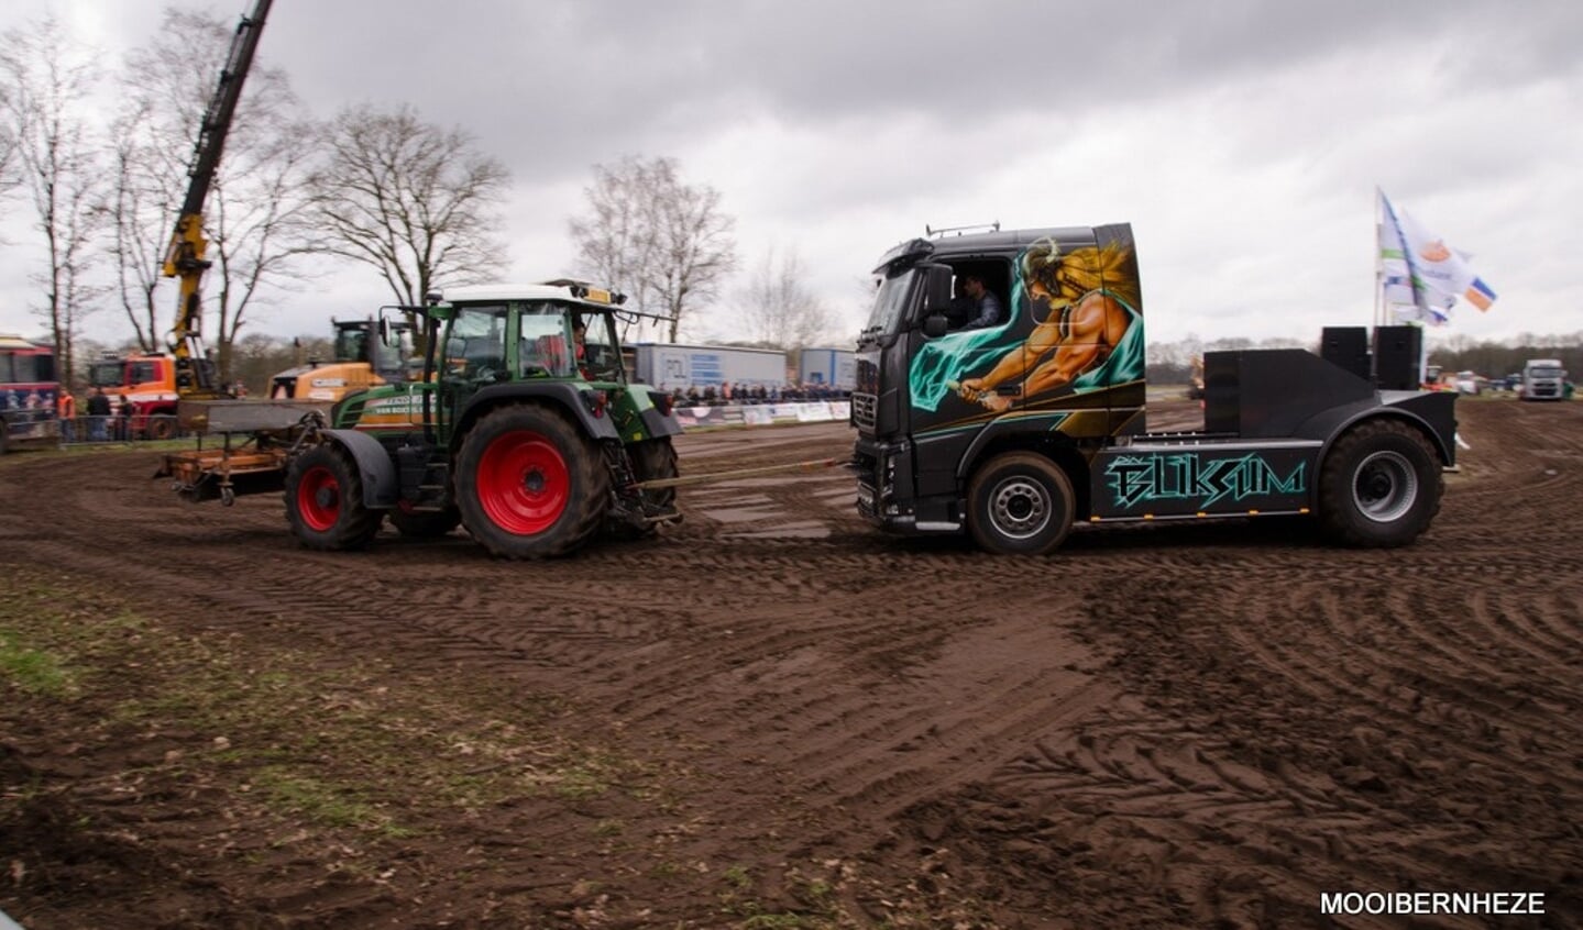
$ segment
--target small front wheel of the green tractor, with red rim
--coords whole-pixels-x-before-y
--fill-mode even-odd
[[[363,503],[363,473],[339,446],[313,446],[287,467],[287,522],[307,549],[363,549],[380,531],[380,511]]]

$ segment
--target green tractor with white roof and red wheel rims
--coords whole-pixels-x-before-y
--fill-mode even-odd
[[[678,476],[681,425],[670,397],[627,378],[622,301],[562,280],[424,307],[421,378],[348,394],[274,440],[293,533],[361,549],[388,516],[407,536],[462,525],[497,557],[541,558],[679,520],[674,487],[640,487]]]

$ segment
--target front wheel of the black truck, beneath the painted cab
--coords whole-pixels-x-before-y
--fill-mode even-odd
[[[1072,531],[1076,495],[1059,465],[1034,452],[1005,452],[967,487],[967,528],[1002,555],[1043,555]]]

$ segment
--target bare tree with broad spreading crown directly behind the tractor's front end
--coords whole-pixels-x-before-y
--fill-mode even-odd
[[[325,136],[313,196],[329,253],[377,269],[407,305],[507,267],[497,207],[511,177],[469,134],[424,123],[410,108],[364,104],[342,111]]]

